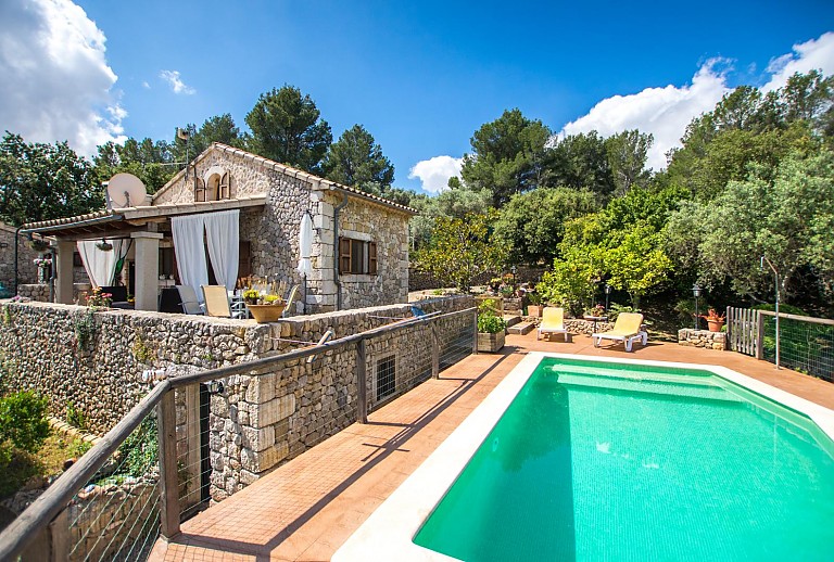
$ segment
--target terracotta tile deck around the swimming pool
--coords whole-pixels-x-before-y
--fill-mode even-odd
[[[732,352],[671,343],[594,348],[507,336],[501,355],[470,356],[182,524],[151,560],[329,560],[367,516],[452,433],[528,350],[722,365],[834,409],[834,384]]]

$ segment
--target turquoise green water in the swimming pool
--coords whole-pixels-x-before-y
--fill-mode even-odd
[[[544,359],[414,542],[481,560],[832,560],[834,445],[699,370]]]

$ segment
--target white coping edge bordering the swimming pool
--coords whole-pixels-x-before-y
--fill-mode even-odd
[[[334,562],[353,560],[448,562],[457,560],[416,545],[413,542],[413,538],[545,357],[709,371],[731,383],[807,416],[834,440],[834,410],[726,367],[529,352],[448,437],[374,510],[368,519],[336,551],[331,560]],[[384,532],[380,533],[380,529],[384,529]]]

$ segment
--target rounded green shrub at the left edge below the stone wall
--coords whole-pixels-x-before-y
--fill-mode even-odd
[[[37,451],[49,436],[48,400],[23,391],[0,398],[0,465],[9,463],[13,449]]]

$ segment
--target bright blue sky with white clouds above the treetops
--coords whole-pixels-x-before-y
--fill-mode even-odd
[[[430,191],[505,108],[555,132],[640,126],[658,139],[657,168],[730,88],[834,73],[831,1],[2,4],[0,128],[26,140],[63,136],[89,152],[125,135],[170,139],[222,113],[245,128],[258,95],[289,84],[334,138],[364,125],[395,186]]]

